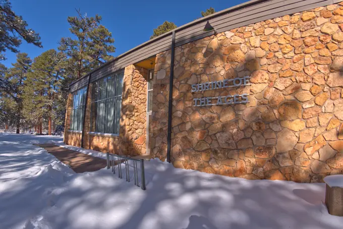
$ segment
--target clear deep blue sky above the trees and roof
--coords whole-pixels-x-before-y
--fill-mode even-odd
[[[43,48],[25,41],[19,47],[34,59],[51,48],[58,47],[61,37],[71,36],[68,16],[76,16],[75,8],[88,16],[102,16],[103,24],[115,39],[117,56],[149,40],[153,29],[164,21],[184,25],[201,17],[201,11],[213,7],[216,11],[236,6],[247,0],[12,0],[12,9],[23,16],[29,27],[40,34]],[[7,52],[7,67],[16,61],[16,54]]]

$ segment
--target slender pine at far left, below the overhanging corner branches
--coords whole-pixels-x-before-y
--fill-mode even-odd
[[[6,103],[14,113],[10,119],[14,120],[17,128],[17,134],[20,132],[23,121],[23,93],[27,74],[30,71],[32,60],[27,53],[19,52],[17,62],[12,64],[12,68],[5,74],[5,82],[8,84],[8,90],[4,91]]]

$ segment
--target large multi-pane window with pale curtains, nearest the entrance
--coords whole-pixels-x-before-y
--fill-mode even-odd
[[[124,71],[121,71],[93,84],[92,132],[119,134],[123,79]]]

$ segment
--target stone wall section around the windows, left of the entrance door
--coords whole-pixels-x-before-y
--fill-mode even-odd
[[[83,139],[83,146],[85,149],[117,154],[123,153],[131,156],[146,153],[147,74],[148,71],[146,69],[134,65],[125,68],[121,110],[122,117],[120,121],[121,129],[119,136],[94,136],[88,134],[91,126],[92,84],[90,85],[86,103],[85,134]],[[66,132],[66,144],[76,145],[75,141],[66,140],[71,139],[74,134],[75,133]],[[81,134],[79,135],[81,139]],[[80,146],[80,144],[77,146]],[[121,152],[118,151],[119,147],[121,148]]]

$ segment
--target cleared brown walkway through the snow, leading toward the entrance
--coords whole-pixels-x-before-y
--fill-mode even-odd
[[[61,146],[53,144],[35,144],[48,153],[54,155],[57,159],[72,168],[75,173],[84,173],[87,171],[97,171],[106,167],[107,163],[105,159],[99,157],[93,157],[88,154],[79,153],[74,150],[66,149]]]

